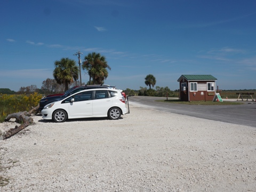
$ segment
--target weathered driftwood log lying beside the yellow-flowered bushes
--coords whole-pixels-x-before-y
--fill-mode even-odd
[[[34,123],[33,118],[31,115],[39,109],[39,104],[36,107],[33,107],[29,112],[23,111],[18,113],[13,113],[10,115],[7,115],[7,117],[4,119],[5,122],[9,121],[11,118],[15,118],[17,123],[20,123],[20,126],[15,126],[14,129],[10,129],[4,134],[4,139],[8,139],[12,137],[12,135],[20,132],[21,130],[25,129],[30,124]]]

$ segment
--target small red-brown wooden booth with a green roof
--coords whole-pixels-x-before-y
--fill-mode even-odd
[[[215,81],[212,75],[181,75],[180,101],[212,101],[215,96]]]

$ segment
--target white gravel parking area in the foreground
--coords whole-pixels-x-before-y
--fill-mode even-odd
[[[0,140],[0,191],[256,191],[254,127],[130,110],[117,121],[35,116]]]

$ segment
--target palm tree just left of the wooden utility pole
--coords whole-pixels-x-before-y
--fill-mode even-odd
[[[55,61],[54,65],[53,77],[58,84],[65,84],[65,91],[67,91],[68,85],[78,79],[78,66],[76,66],[75,60],[68,58]]]

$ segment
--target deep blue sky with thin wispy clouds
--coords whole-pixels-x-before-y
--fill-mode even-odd
[[[53,78],[54,61],[92,52],[119,89],[179,88],[183,75],[213,75],[219,89],[256,89],[256,1],[2,0],[0,88]],[[89,81],[82,70],[82,82]]]

